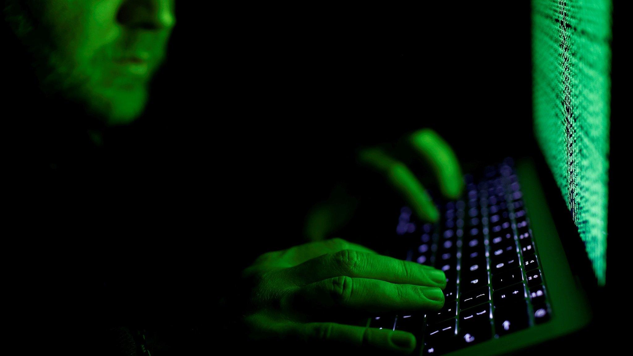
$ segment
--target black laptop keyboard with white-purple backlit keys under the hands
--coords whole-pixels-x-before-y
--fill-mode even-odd
[[[419,224],[403,207],[396,227],[403,248],[394,257],[446,274],[444,307],[370,320],[371,327],[415,334],[428,355],[503,338],[551,315],[511,160],[487,167],[478,181],[465,179],[465,196],[439,207],[439,222]]]

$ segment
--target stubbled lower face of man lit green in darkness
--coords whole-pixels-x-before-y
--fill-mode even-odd
[[[174,1],[27,0],[28,46],[38,47],[32,51],[43,62],[35,61],[42,87],[109,125],[132,122],[165,57]]]

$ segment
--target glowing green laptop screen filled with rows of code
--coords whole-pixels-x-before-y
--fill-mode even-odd
[[[532,1],[534,130],[584,241],[606,277],[610,0]]]

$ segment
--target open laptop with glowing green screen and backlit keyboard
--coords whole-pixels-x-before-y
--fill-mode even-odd
[[[392,257],[444,270],[444,307],[375,315],[423,355],[496,355],[586,328],[606,284],[610,1],[532,2],[534,154],[465,176],[439,222],[394,211]]]

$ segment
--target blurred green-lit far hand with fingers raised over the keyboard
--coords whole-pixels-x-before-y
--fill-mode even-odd
[[[448,143],[430,129],[413,132],[389,148],[360,149],[357,158],[361,167],[382,176],[385,188],[401,196],[423,222],[437,221],[439,212],[420,182],[421,177],[413,174],[415,168],[430,168],[446,198],[456,199],[463,191],[463,175],[457,157]],[[354,196],[349,196],[340,186],[335,188],[328,201],[315,205],[308,213],[305,229],[308,239],[325,239],[344,226],[351,219],[356,203]]]

